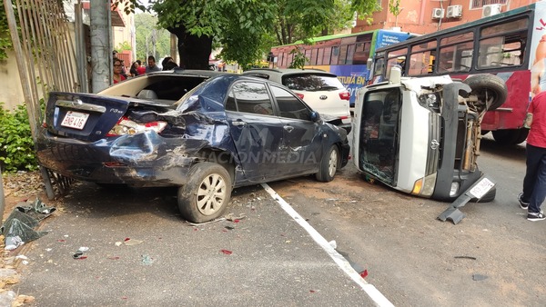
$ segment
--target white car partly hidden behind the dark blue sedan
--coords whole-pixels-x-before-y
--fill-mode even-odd
[[[250,69],[243,74],[262,77],[287,86],[330,124],[350,132],[349,91],[336,74],[319,69]]]

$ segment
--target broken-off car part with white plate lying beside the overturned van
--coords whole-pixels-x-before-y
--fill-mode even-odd
[[[495,183],[488,176],[482,175],[480,180],[472,184],[465,193],[461,194],[455,202],[451,203],[448,209],[438,216],[438,219],[442,222],[451,220],[454,224],[459,223],[465,216],[459,208],[470,202],[471,199],[480,200],[494,186]]]

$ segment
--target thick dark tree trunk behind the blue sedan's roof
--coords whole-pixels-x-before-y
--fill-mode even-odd
[[[212,51],[212,37],[189,35],[186,27],[168,28],[178,38],[178,65],[184,69],[208,69],[208,57]]]

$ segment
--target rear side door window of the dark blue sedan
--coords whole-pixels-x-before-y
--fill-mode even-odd
[[[227,95],[227,111],[273,115],[273,105],[265,84],[240,82]]]

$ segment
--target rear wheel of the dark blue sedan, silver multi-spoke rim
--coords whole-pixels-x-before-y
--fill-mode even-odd
[[[197,163],[187,183],[178,188],[178,210],[191,223],[212,221],[226,210],[231,197],[231,177],[217,163]]]

